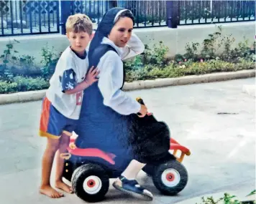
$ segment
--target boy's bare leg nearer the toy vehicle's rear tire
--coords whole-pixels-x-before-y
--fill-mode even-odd
[[[64,133],[60,137],[60,147],[56,155],[56,176],[55,176],[55,187],[61,190],[64,190],[67,193],[73,193],[73,190],[70,186],[65,184],[62,180],[63,178],[63,168],[64,168],[64,159],[60,157],[62,153],[67,152],[67,147],[70,142],[70,134]]]

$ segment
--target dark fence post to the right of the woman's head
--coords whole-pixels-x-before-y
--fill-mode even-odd
[[[166,24],[169,28],[176,29],[180,24],[178,14],[178,1],[166,1]]]

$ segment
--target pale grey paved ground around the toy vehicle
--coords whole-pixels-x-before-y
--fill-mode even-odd
[[[155,195],[152,203],[255,188],[255,98],[242,92],[244,84],[255,84],[255,79],[129,92],[145,99],[155,117],[170,125],[175,140],[192,152],[184,160],[188,185],[177,196],[161,195],[150,178],[140,174],[140,182]],[[45,147],[45,139],[37,136],[40,106],[41,102],[0,106],[0,202],[84,203],[76,195],[51,200],[37,193]],[[147,202],[110,188],[102,203]]]

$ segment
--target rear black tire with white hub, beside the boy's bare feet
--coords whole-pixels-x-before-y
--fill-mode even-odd
[[[86,180],[88,181],[84,184]],[[86,164],[74,171],[71,183],[74,192],[79,198],[95,203],[104,200],[104,196],[109,190],[109,175],[99,165]],[[84,188],[84,186],[86,187]],[[95,189],[94,186],[96,186]]]

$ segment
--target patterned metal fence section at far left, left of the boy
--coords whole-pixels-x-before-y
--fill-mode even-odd
[[[0,1],[0,37],[59,33],[59,1]]]

